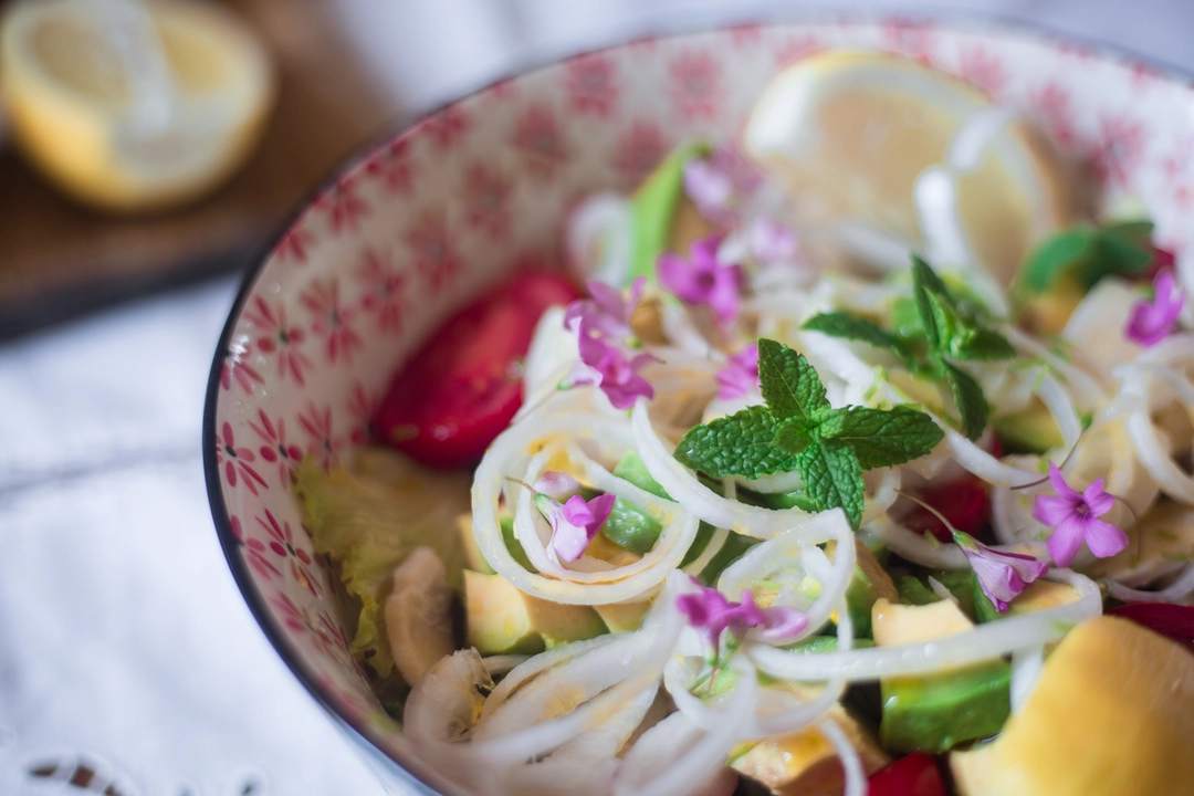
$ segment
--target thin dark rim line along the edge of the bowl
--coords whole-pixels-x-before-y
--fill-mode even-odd
[[[438,792],[418,775],[410,771],[406,767],[406,765],[408,765],[407,763],[396,760],[389,753],[384,752],[381,747],[381,741],[375,738],[374,730],[371,730],[363,722],[361,723],[362,726],[358,726],[357,722],[344,716],[337,706],[336,698],[326,693],[322,685],[318,681],[318,678],[308,671],[301,655],[288,640],[285,631],[275,621],[273,613],[266,605],[264,596],[258,591],[252,574],[248,572],[248,564],[240,554],[241,543],[233,533],[232,519],[228,513],[228,507],[224,504],[220,467],[216,462],[216,405],[220,397],[221,374],[224,359],[229,352],[232,335],[236,329],[236,321],[245,308],[248,296],[252,294],[257,278],[260,276],[265,264],[269,261],[270,254],[287,235],[290,228],[306,212],[309,211],[315,199],[334,187],[344,174],[356,169],[380,147],[411,131],[421,119],[435,116],[449,105],[475,97],[493,86],[516,79],[529,72],[547,68],[559,63],[560,61],[567,61],[573,57],[626,47],[635,42],[691,36],[702,32],[712,33],[721,30],[732,30],[734,27],[745,27],[750,25],[768,26],[833,23],[866,25],[896,21],[905,23],[910,26],[931,25],[935,27],[947,27],[962,33],[997,33],[1009,38],[1026,39],[1038,44],[1041,42],[1054,45],[1077,44],[1090,50],[1098,60],[1110,60],[1118,63],[1124,63],[1125,61],[1139,63],[1155,69],[1158,74],[1164,75],[1165,78],[1180,79],[1186,86],[1194,87],[1194,74],[1190,72],[1157,58],[1140,56],[1139,54],[1121,45],[1108,44],[1107,42],[1102,42],[1096,38],[1060,32],[1048,26],[1029,24],[1003,14],[974,13],[956,8],[934,10],[931,12],[917,10],[916,13],[910,14],[866,11],[843,13],[818,10],[801,14],[776,13],[774,16],[745,18],[738,21],[731,21],[727,19],[722,24],[714,26],[696,26],[691,29],[685,29],[683,25],[669,26],[666,32],[648,32],[638,37],[618,39],[616,42],[576,51],[567,56],[548,56],[536,62],[528,61],[525,63],[519,63],[513,70],[503,73],[503,75],[498,79],[491,80],[485,85],[457,97],[456,99],[441,103],[425,111],[404,113],[396,117],[394,122],[383,127],[383,131],[381,134],[371,136],[367,142],[355,148],[346,159],[340,161],[331,172],[328,172],[328,175],[322,179],[315,189],[309,191],[297,204],[296,209],[287,217],[287,220],[279,224],[278,232],[271,236],[270,242],[261,247],[259,254],[251,260],[253,265],[248,267],[241,279],[240,288],[236,290],[236,297],[228,310],[228,320],[224,322],[223,331],[220,333],[220,341],[216,346],[211,370],[208,376],[208,389],[203,408],[203,470],[208,489],[208,502],[211,508],[211,518],[216,526],[216,535],[220,538],[220,545],[223,549],[224,559],[228,561],[228,568],[232,570],[233,579],[240,588],[241,597],[248,605],[250,612],[253,615],[253,618],[257,619],[257,623],[265,634],[265,637],[278,653],[278,656],[282,658],[290,672],[298,679],[303,687],[306,687],[307,692],[310,693],[315,702],[319,703],[319,705],[322,706],[324,710],[330,714],[330,716],[338,722],[344,730],[353,736],[353,740],[357,741],[356,746],[361,747],[363,753],[376,759],[388,771],[395,772],[406,778],[408,780],[407,784],[423,789],[426,794]]]

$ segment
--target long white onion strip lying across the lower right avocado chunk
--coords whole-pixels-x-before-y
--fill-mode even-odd
[[[927,642],[819,655],[753,646],[747,654],[768,674],[792,680],[818,681],[841,677],[856,681],[927,674],[1053,643],[1065,636],[1072,625],[1102,613],[1102,597],[1089,578],[1066,569],[1054,569],[1046,578],[1069,584],[1078,592],[1078,599]]]

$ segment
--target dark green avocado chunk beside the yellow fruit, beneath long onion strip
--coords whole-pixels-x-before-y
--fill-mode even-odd
[[[880,681],[879,738],[888,752],[938,754],[1003,729],[1011,711],[1011,666],[1003,660],[942,674]]]

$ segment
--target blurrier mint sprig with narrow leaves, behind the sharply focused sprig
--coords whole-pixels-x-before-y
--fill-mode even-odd
[[[858,340],[886,348],[899,357],[909,370],[938,378],[949,389],[962,432],[978,439],[986,428],[990,407],[979,387],[956,363],[968,360],[1010,359],[1016,350],[998,332],[983,326],[967,311],[929,264],[912,257],[912,304],[919,335],[924,338],[923,356],[876,323],[847,313],[823,313],[805,322],[804,328],[837,338]]]

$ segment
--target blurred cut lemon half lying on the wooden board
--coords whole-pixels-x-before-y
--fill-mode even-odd
[[[87,204],[134,211],[230,175],[275,81],[256,37],[213,5],[25,0],[0,27],[0,90],[38,168]]]

